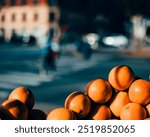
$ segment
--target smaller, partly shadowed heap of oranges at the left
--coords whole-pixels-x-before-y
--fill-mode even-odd
[[[33,109],[35,97],[31,90],[25,87],[14,89],[8,99],[0,106],[2,120],[43,120],[46,114],[39,109]]]

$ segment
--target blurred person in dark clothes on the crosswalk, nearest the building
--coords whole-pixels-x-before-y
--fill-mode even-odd
[[[59,28],[51,28],[48,34],[48,38],[45,39],[46,43],[42,45],[44,47],[45,56],[43,58],[41,74],[55,74],[56,61],[60,56],[60,39],[61,32]]]

